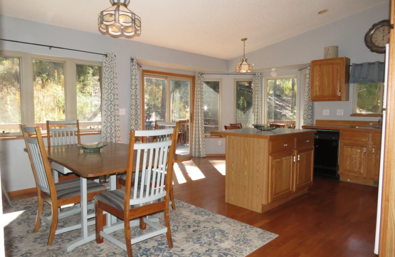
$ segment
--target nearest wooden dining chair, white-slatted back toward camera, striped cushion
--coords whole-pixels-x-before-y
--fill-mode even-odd
[[[135,143],[137,136],[164,137],[165,140],[151,143]],[[126,186],[107,191],[94,197],[96,207],[96,242],[104,238],[127,251],[131,257],[132,245],[148,238],[166,234],[169,248],[173,247],[169,220],[169,189],[172,182],[174,129],[130,130],[127,160]],[[134,153],[137,151],[137,154]],[[135,166],[133,167],[133,159]],[[146,167],[146,169],[141,169]],[[148,172],[147,172],[148,171]],[[132,185],[133,173],[134,183]],[[141,175],[140,175],[141,173]],[[147,179],[147,181],[146,181]],[[125,243],[103,231],[103,211],[123,220]],[[162,212],[164,227],[154,224],[147,215]],[[144,230],[150,225],[155,231],[131,237],[130,220],[139,218],[139,227]],[[122,227],[121,227],[122,228]]]

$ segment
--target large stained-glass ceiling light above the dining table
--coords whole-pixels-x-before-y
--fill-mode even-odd
[[[99,13],[98,27],[111,37],[133,36],[141,33],[141,18],[127,8],[129,0],[110,0],[111,6]]]

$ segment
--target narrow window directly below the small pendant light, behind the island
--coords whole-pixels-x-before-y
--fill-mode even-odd
[[[252,127],[252,80],[236,80],[236,123]]]

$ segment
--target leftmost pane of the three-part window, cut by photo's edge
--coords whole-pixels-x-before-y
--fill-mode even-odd
[[[0,130],[19,131],[20,122],[20,58],[0,56]]]

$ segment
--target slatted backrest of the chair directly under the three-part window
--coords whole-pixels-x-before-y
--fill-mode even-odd
[[[48,136],[48,145],[81,143],[78,120],[46,121],[46,129],[52,135]]]

